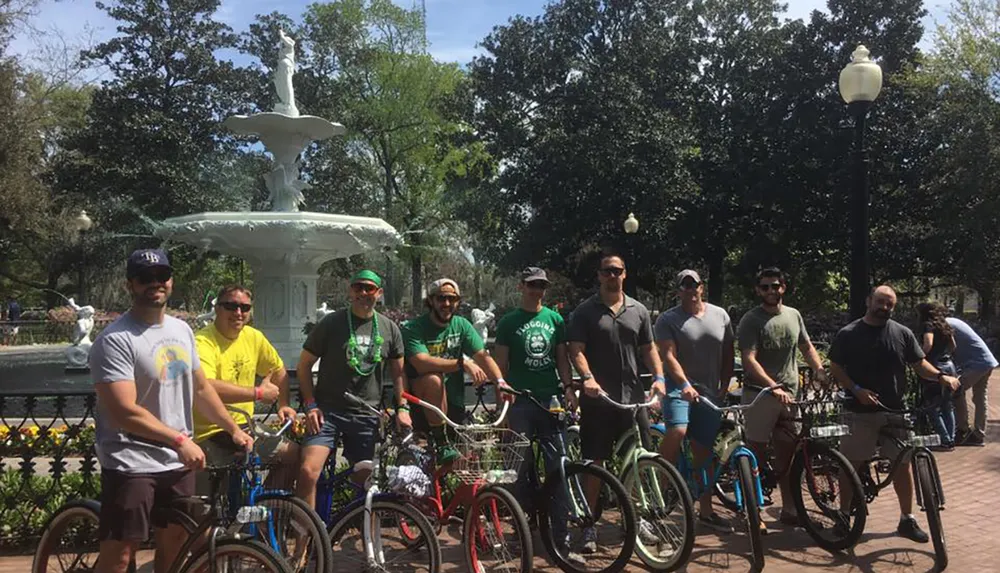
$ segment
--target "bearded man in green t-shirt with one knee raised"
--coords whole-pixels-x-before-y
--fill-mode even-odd
[[[466,374],[476,386],[487,380],[495,381],[498,386],[506,384],[472,323],[455,316],[461,301],[458,283],[438,279],[427,289],[424,304],[428,312],[403,325],[410,391],[457,422],[465,418]],[[465,360],[466,356],[472,359]],[[438,445],[438,463],[445,464],[458,457],[458,452],[444,439],[444,420],[437,414],[415,410],[413,424],[417,430],[430,431]]]

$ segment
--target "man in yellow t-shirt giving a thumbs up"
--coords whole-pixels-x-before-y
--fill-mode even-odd
[[[247,325],[252,300],[250,291],[239,285],[219,290],[215,322],[195,334],[198,358],[209,383],[225,404],[253,415],[255,401],[271,404],[277,400],[278,418],[284,423],[296,415],[288,405],[288,374],[281,357],[264,334]],[[257,376],[263,377],[260,385],[255,384]],[[241,427],[248,425],[246,416],[235,412],[232,416]],[[209,464],[226,464],[237,453],[228,434],[197,413],[194,434]],[[261,457],[265,461],[278,462],[281,467],[270,472],[268,485],[290,488],[297,471],[291,465],[297,465],[298,446],[287,440],[270,445],[263,442],[258,444]]]

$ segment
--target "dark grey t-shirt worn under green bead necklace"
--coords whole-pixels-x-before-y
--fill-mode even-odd
[[[351,337],[347,321],[348,309],[328,314],[309,333],[302,348],[320,357],[319,376],[316,378],[316,405],[323,410],[349,411],[344,392],[351,392],[370,404],[377,404],[382,395],[382,380],[386,362],[403,357],[403,335],[396,323],[382,313],[377,313],[378,332],[382,337],[382,361],[367,376],[361,376],[348,363],[347,341]],[[371,369],[369,348],[372,344],[372,320],[352,317],[354,338],[358,355],[362,358],[360,369]]]

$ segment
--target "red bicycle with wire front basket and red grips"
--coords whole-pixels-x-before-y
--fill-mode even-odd
[[[524,448],[530,442],[506,428],[500,428],[510,406],[504,402],[497,420],[492,424],[457,424],[433,404],[403,392],[403,398],[440,416],[455,432],[453,447],[459,458],[438,466],[436,452],[432,451],[425,467],[432,476],[433,492],[415,496],[412,502],[440,527],[444,521],[462,519],[462,541],[465,562],[472,573],[486,571],[521,571],[531,573],[534,553],[528,520],[514,495],[501,487],[517,479],[517,470],[523,461]],[[419,460],[419,458],[418,458]],[[437,468],[437,469],[434,469]],[[451,499],[445,505],[442,482],[457,482]],[[502,511],[506,509],[506,511]],[[510,547],[504,530],[510,530],[516,545]],[[520,548],[520,555],[516,556]],[[490,565],[484,563],[491,558]]]

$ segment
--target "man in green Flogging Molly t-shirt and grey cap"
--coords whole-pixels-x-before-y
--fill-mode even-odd
[[[518,285],[521,307],[505,314],[497,324],[494,353],[500,371],[513,388],[529,390],[539,402],[550,405],[550,409],[558,405],[558,396],[564,394],[567,409],[573,411],[576,395],[570,385],[572,374],[566,348],[566,326],[558,312],[542,306],[547,288],[549,279],[544,270],[528,267],[521,272]],[[553,399],[556,404],[552,404]],[[566,455],[566,450],[556,419],[526,399],[515,400],[507,418],[512,430],[538,440],[546,474],[559,469],[559,460]],[[534,495],[527,490],[528,469],[528,463],[521,464],[514,491],[525,512],[531,515]],[[556,495],[552,530],[557,541],[564,541],[567,534],[566,493],[560,488]]]

